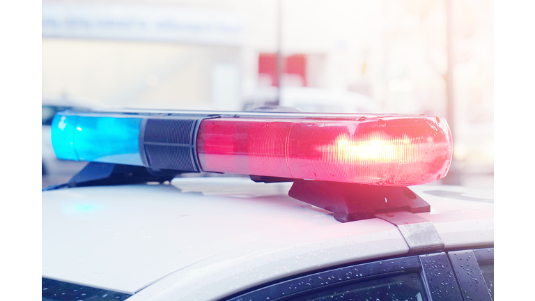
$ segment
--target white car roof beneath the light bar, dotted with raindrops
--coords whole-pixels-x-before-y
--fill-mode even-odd
[[[337,222],[290,198],[290,185],[210,177],[43,192],[42,277],[136,293],[132,300],[215,300],[289,275],[408,253],[393,224]],[[431,213],[418,215],[433,222],[445,248],[493,245],[492,195],[411,189],[431,204]]]

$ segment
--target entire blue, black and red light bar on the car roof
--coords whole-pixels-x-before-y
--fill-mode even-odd
[[[407,186],[446,176],[444,118],[213,111],[63,111],[56,156],[185,172]]]

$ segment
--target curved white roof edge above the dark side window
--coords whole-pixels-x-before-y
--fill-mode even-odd
[[[336,224],[206,258],[163,277],[129,300],[219,300],[304,272],[408,252],[400,231],[382,219]]]

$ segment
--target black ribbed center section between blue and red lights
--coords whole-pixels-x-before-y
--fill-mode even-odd
[[[141,138],[152,169],[201,171],[196,162],[196,130],[203,117],[148,118]]]

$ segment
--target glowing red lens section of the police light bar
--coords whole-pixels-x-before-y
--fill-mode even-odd
[[[215,118],[197,153],[203,171],[406,186],[443,178],[452,141],[429,116]]]

